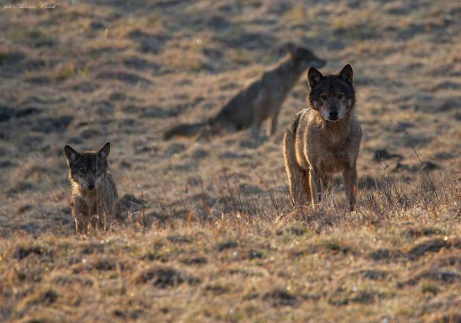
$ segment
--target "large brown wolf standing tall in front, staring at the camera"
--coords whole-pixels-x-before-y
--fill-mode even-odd
[[[318,203],[342,172],[349,209],[355,206],[357,157],[362,130],[355,116],[353,70],[337,75],[308,71],[310,108],[296,114],[283,137],[290,195],[295,204]]]

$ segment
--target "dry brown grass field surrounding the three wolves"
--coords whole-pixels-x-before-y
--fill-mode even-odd
[[[1,322],[461,322],[459,1],[7,2]],[[354,68],[352,213],[341,177],[320,207],[290,202],[306,73],[274,137],[162,139],[290,41]],[[75,235],[62,148],[106,141],[121,222]]]

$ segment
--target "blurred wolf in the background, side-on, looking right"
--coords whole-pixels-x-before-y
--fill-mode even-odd
[[[324,60],[317,58],[308,49],[294,44],[288,44],[287,48],[289,55],[280,60],[274,69],[265,72],[259,80],[255,80],[231,98],[215,117],[208,122],[177,125],[165,132],[164,138],[191,137],[206,127],[213,134],[222,130],[251,128],[253,135],[258,137],[265,120],[269,120],[267,136],[274,134],[280,107],[301,73],[310,66],[323,67],[325,64]]]

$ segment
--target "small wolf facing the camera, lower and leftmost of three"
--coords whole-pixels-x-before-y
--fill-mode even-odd
[[[71,209],[76,232],[84,232],[90,224],[108,229],[115,219],[118,194],[109,171],[109,153],[110,143],[98,152],[79,153],[71,146],[64,147],[72,185]]]

